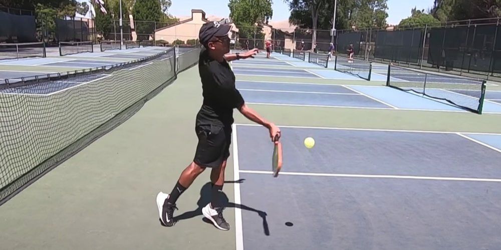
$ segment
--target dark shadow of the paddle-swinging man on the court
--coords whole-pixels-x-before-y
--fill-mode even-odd
[[[244,179],[231,180],[231,181],[228,180],[228,181],[224,181],[224,183],[236,183],[236,182],[242,183],[243,180]],[[247,210],[247,211],[257,212],[258,215],[261,218],[263,218],[263,230],[264,230],[265,234],[266,235],[270,235],[270,229],[268,228],[268,221],[266,220],[266,216],[268,214],[266,214],[265,211],[254,209],[252,207],[248,207],[248,206],[243,205],[243,204],[236,204],[236,203],[233,203],[233,202],[229,202],[229,199],[228,199],[228,196],[226,195],[226,193],[219,192],[219,194],[221,195],[219,197],[219,199],[222,201],[223,204],[225,204],[226,207],[234,207],[234,208],[239,208],[239,209],[243,209],[243,210]],[[196,204],[198,205],[198,207],[195,210],[193,210],[193,211],[187,211],[187,212],[184,212],[183,214],[175,216],[173,218],[174,221],[177,222],[179,220],[189,219],[189,218],[193,218],[193,217],[202,215],[202,207],[204,207],[208,203],[210,203],[211,199],[212,199],[212,186],[211,186],[211,183],[209,181],[209,182],[205,183],[202,186],[202,188],[200,189],[200,198],[196,202]],[[223,211],[223,213],[224,213],[224,211]],[[205,217],[203,218],[203,221],[212,224],[212,222],[209,219],[205,218]]]

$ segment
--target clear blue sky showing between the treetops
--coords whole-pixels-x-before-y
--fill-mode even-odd
[[[229,15],[228,0],[171,0],[172,5],[169,13],[174,16],[191,15],[191,9],[202,9],[207,15],[216,15],[227,17]],[[410,16],[410,10],[414,6],[418,9],[427,9],[433,6],[433,0],[388,0],[388,18],[389,24],[398,24],[401,19]],[[289,19],[290,10],[284,0],[273,0],[272,21],[281,21]]]

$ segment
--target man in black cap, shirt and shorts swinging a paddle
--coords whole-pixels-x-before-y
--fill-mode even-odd
[[[203,215],[221,230],[229,230],[229,224],[222,215],[224,204],[217,199],[224,183],[224,169],[229,156],[233,109],[236,108],[248,119],[259,123],[270,132],[270,137],[280,137],[280,129],[262,118],[248,107],[235,87],[235,75],[228,61],[254,57],[258,49],[242,54],[229,52],[229,25],[207,22],[199,32],[203,48],[198,60],[198,71],[202,82],[203,103],[196,115],[195,132],[198,137],[193,161],[182,171],[170,193],[157,194],[160,221],[165,226],[174,225],[173,214],[176,200],[191,185],[205,168],[211,168],[211,202],[202,208]]]

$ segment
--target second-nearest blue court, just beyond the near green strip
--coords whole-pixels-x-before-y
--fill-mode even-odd
[[[467,112],[447,101],[387,86],[237,80],[236,87],[246,102],[254,104]],[[473,98],[459,96],[463,102],[475,104]],[[485,101],[483,113],[501,113],[501,103]]]

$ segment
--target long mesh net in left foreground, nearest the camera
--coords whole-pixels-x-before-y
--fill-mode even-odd
[[[0,204],[175,80],[174,53],[0,84]]]

